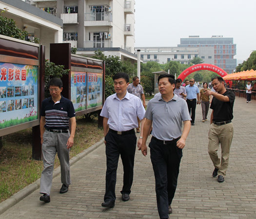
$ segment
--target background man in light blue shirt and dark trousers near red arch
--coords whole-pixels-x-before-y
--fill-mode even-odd
[[[185,86],[187,91],[187,104],[188,111],[191,115],[191,125],[195,125],[195,117],[196,117],[196,106],[200,103],[199,101],[199,89],[195,85],[195,79],[189,80],[189,85]]]

